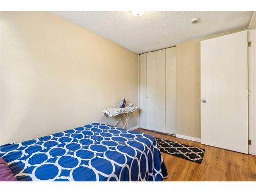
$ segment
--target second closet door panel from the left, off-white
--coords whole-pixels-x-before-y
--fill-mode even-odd
[[[156,52],[146,53],[146,128],[155,130]]]

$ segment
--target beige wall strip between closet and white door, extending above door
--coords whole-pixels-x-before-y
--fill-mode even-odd
[[[246,29],[221,33],[177,45],[176,134],[200,138],[200,41]]]

